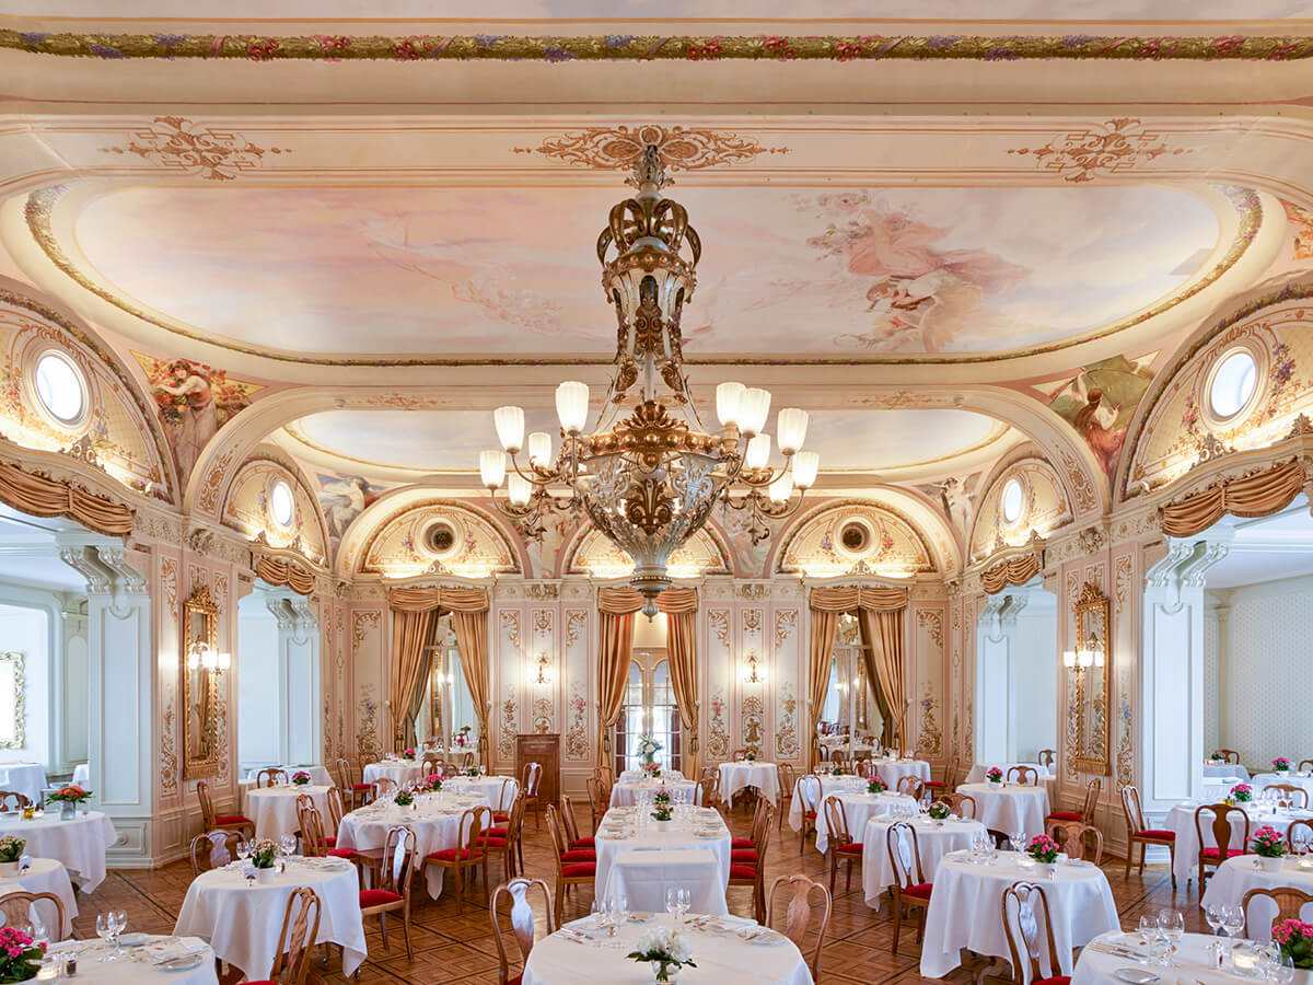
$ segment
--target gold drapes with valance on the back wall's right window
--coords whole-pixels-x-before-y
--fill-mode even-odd
[[[885,712],[885,742],[897,733],[906,737],[907,692],[906,655],[903,653],[903,616],[907,611],[906,588],[876,588],[851,586],[813,588],[807,602],[811,609],[811,636],[807,642],[807,665],[811,674],[809,693],[811,713],[811,768],[815,768],[815,732],[825,705],[825,692],[830,682],[830,657],[839,630],[839,616],[848,612],[857,616],[863,641],[867,675],[876,688],[876,696]]]

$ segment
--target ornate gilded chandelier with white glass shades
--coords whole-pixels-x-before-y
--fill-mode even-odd
[[[561,447],[553,454],[551,436],[536,431],[521,466],[524,410],[498,407],[492,420],[502,450],[481,453],[479,475],[496,508],[529,537],[541,538],[551,510],[587,514],[633,558],[630,584],[653,616],[656,596],[670,584],[671,556],[717,503],[742,511],[752,542],[760,544],[771,533],[769,520],[802,506],[821,462],[802,450],[806,411],[786,407],[776,420],[784,465],[771,466],[771,436],[764,432],[771,394],[759,387],[720,383],[721,432],[704,427],[684,374],[679,330],[680,311],[697,284],[702,244],[684,206],[662,196],[672,181],[656,147],[634,162],[626,184],[637,194],[612,208],[597,236],[601,286],[620,328],[596,427],[586,431],[587,383],[561,383]],[[499,499],[503,485],[506,496]]]

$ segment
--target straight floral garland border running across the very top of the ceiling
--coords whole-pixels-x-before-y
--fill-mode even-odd
[[[0,49],[63,58],[198,58],[273,60],[507,60],[507,62],[720,62],[720,60],[1241,60],[1293,62],[1313,55],[1313,37],[1116,37],[1091,34],[983,37],[962,34],[851,37],[756,34],[660,37],[607,34],[511,37],[500,34],[403,37],[310,34],[81,34],[0,30]]]

